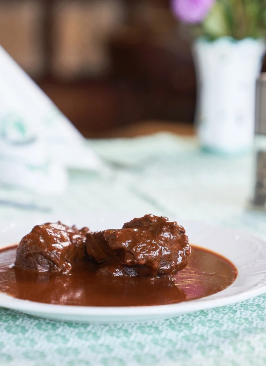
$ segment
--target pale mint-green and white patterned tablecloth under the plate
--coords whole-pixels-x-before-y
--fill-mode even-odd
[[[241,228],[266,239],[266,214],[247,209],[251,156],[200,152],[193,138],[159,134],[91,141],[106,161],[100,175],[71,173],[67,194],[30,196],[58,217],[76,212],[154,213]],[[2,189],[0,199],[26,199]],[[2,219],[38,210],[0,208]],[[173,319],[90,326],[34,318],[0,308],[0,365],[265,365],[266,295]]]

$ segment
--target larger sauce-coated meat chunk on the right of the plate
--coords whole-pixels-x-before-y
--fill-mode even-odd
[[[185,229],[154,215],[133,219],[122,229],[87,233],[86,251],[102,263],[103,273],[149,277],[174,275],[191,254]]]

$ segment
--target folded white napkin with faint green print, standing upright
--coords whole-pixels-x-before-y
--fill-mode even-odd
[[[85,139],[0,46],[0,183],[51,194],[67,169],[100,170]]]

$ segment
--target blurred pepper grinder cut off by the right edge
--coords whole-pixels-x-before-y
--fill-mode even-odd
[[[254,188],[252,206],[266,211],[266,73],[256,84],[256,117],[254,141]]]

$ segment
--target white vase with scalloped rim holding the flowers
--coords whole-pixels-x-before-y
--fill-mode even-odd
[[[252,148],[255,84],[264,52],[263,40],[253,38],[195,41],[196,120],[204,149],[231,154]]]

